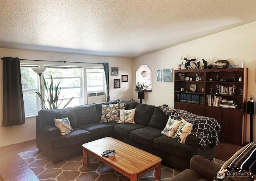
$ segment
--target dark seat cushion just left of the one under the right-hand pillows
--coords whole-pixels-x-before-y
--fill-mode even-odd
[[[152,147],[153,140],[161,135],[161,130],[147,126],[131,131],[131,140]]]

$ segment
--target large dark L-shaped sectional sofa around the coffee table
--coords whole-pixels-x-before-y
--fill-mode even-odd
[[[136,124],[100,123],[102,104],[116,103],[126,103],[126,109],[136,108]],[[60,135],[54,118],[66,117],[74,131]],[[107,136],[157,155],[162,158],[162,163],[180,171],[189,168],[190,159],[194,155],[201,155],[206,159],[214,157],[214,147],[218,140],[200,146],[200,139],[190,134],[186,138],[186,143],[181,144],[176,138],[161,134],[167,121],[167,114],[159,107],[128,100],[113,100],[58,110],[40,110],[36,116],[36,144],[37,148],[54,163],[82,154],[82,144]]]

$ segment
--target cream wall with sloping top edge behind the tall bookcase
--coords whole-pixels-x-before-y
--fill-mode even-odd
[[[156,69],[177,69],[181,55],[188,59],[196,58],[197,61],[205,59],[208,64],[213,64],[217,60],[228,60],[231,64],[238,66],[238,62],[242,60],[244,67],[248,68],[248,100],[250,94],[254,94],[256,100],[255,30],[256,22],[252,22],[134,59],[133,72],[143,64],[148,65],[152,70],[152,92],[144,92],[142,103],[168,104],[174,108],[174,83],[156,82]],[[133,82],[135,85],[135,78]],[[133,92],[133,98],[137,100],[136,92]],[[249,120],[248,114],[246,141],[249,141]],[[255,115],[254,120],[256,120]],[[254,141],[256,141],[256,121],[254,121]]]

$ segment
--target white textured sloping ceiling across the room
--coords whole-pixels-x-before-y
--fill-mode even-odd
[[[256,21],[256,0],[0,0],[0,47],[135,58]]]

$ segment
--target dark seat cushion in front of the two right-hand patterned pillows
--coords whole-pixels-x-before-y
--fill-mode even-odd
[[[180,157],[191,159],[196,154],[196,148],[187,144],[180,144],[175,138],[162,135],[153,140],[153,148],[162,150]]]

